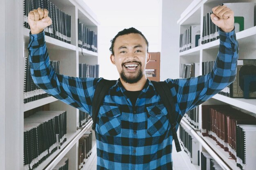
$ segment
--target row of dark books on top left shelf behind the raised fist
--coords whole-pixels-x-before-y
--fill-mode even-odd
[[[45,28],[45,35],[52,38],[71,43],[71,15],[61,11],[49,0],[24,0],[24,26],[28,29],[28,14],[34,9],[47,9],[48,16],[52,19],[52,24]]]

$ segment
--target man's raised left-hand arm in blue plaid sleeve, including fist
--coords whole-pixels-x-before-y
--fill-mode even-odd
[[[28,16],[31,34],[29,64],[34,83],[62,102],[91,114],[92,97],[97,78],[70,77],[56,74],[45,44],[44,28],[52,24],[46,9],[36,9]]]

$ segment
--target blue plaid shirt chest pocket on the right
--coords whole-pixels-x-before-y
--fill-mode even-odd
[[[163,135],[168,130],[169,120],[164,104],[148,106],[148,134],[152,137]]]

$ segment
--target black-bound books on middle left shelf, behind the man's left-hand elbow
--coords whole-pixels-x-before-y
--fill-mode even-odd
[[[51,61],[51,64],[56,71],[56,73],[59,73],[60,70],[60,62],[59,61]],[[25,77],[24,77],[24,103],[32,102],[38,99],[42,99],[45,97],[49,97],[49,95],[40,89],[36,84],[34,84],[34,81],[31,77],[30,72],[30,64],[28,61],[28,57],[25,59]]]

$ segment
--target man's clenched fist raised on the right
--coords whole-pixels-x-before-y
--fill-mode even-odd
[[[234,12],[226,5],[219,5],[212,9],[211,20],[225,32],[231,32],[234,29]]]

